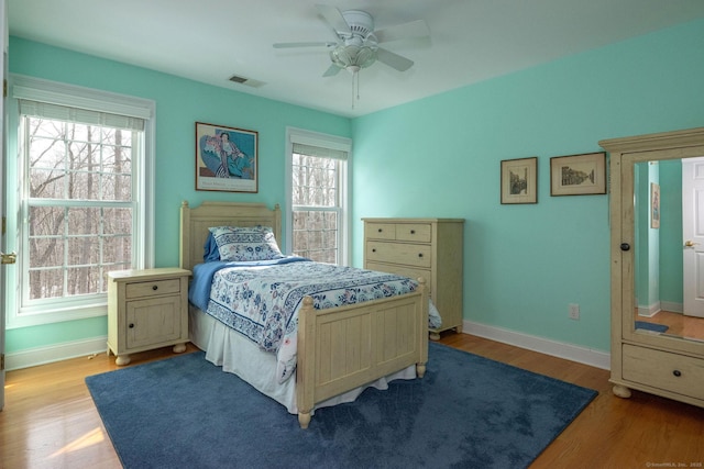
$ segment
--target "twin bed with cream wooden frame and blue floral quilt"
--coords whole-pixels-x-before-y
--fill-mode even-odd
[[[425,282],[283,256],[280,215],[278,205],[182,204],[180,267],[194,271],[190,339],[206,359],[298,414],[301,428],[317,407],[422,378]],[[260,237],[261,245],[248,244]]]

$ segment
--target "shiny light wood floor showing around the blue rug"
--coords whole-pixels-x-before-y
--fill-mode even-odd
[[[704,467],[704,409],[638,391],[619,399],[606,370],[480,337],[444,333],[441,343],[600,392],[531,468]],[[131,365],[170,356],[170,347],[138,354]],[[84,383],[116,368],[101,354],[8,372],[0,468],[119,468]]]

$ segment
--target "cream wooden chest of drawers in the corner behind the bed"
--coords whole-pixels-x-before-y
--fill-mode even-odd
[[[426,279],[447,330],[462,332],[463,219],[362,219],[364,268]]]

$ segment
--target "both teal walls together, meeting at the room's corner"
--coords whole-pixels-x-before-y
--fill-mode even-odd
[[[363,216],[464,217],[465,320],[608,350],[608,196],[550,197],[550,157],[704,126],[702,51],[697,21],[352,121],[14,37],[10,71],[156,101],[157,266],[178,261],[182,200],[285,200],[286,125],[351,136],[355,266]],[[260,132],[257,194],[193,189],[195,121]],[[530,156],[538,204],[501,205],[499,161]],[[99,320],[8,331],[8,353],[105,334]]]

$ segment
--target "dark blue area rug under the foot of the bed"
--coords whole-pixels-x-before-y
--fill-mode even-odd
[[[424,379],[308,429],[197,351],[86,378],[125,468],[520,468],[596,391],[430,343]]]

